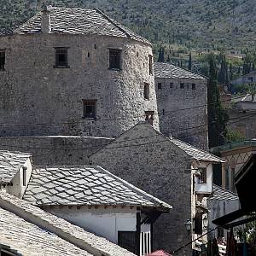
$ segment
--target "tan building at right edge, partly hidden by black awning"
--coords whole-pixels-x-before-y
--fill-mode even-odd
[[[218,154],[226,162],[220,172],[215,172],[215,183],[224,189],[236,192],[235,176],[256,150],[256,140],[245,140],[228,143],[223,146],[211,148],[212,154]]]

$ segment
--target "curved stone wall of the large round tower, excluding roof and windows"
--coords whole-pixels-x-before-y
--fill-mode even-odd
[[[68,48],[69,68],[55,68],[55,47]],[[109,69],[109,49],[122,49],[122,70]],[[128,38],[34,34],[0,38],[0,136],[116,137],[145,111],[157,112],[151,46]],[[149,100],[144,99],[149,84]],[[96,119],[83,119],[96,100]],[[15,125],[14,125],[15,124]],[[158,116],[154,117],[158,129]]]

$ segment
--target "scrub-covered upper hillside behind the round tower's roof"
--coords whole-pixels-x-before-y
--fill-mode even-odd
[[[154,44],[254,49],[256,43],[256,0],[1,0],[0,29],[19,25],[43,2],[100,8]]]

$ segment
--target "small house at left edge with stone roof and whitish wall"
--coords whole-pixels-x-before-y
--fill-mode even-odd
[[[0,151],[0,188],[21,197],[32,173],[31,154]]]

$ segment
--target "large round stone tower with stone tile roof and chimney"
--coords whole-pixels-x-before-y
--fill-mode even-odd
[[[51,7],[0,37],[0,136],[158,129],[151,44],[98,9]]]

